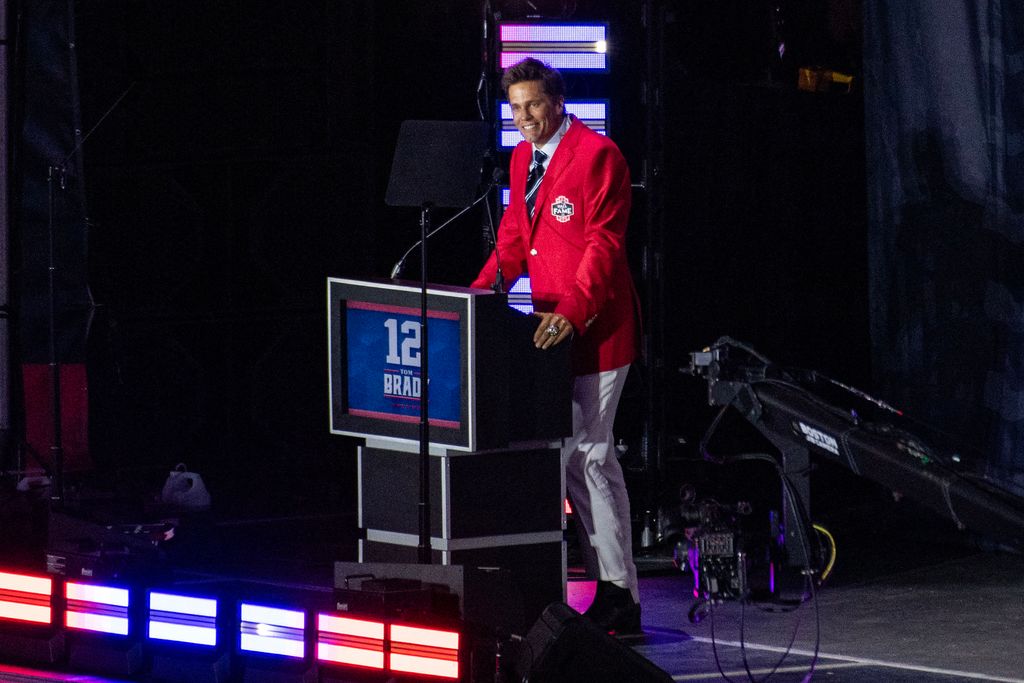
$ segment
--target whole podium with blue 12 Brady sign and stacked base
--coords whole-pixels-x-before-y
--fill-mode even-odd
[[[401,578],[418,559],[420,296],[419,284],[328,280],[331,431],[365,439],[359,563],[402,565]],[[453,567],[449,588],[479,613],[456,567],[504,572],[516,616],[495,624],[524,632],[564,600],[568,344],[537,349],[537,318],[489,290],[432,286],[427,309],[432,564],[421,574]],[[336,586],[358,572],[339,562]]]

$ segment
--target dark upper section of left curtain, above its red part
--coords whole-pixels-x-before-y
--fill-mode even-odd
[[[84,362],[91,298],[86,276],[87,225],[82,179],[74,3],[20,3],[24,54],[15,172],[20,263],[19,355],[26,364],[50,358],[50,284],[54,272],[56,360]]]

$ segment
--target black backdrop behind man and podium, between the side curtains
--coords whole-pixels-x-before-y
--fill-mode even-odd
[[[383,206],[394,140],[406,119],[476,118],[480,4],[77,3],[85,125],[128,91],[84,150],[98,463],[184,461],[243,493],[351,484],[352,444],[327,433],[324,279],[383,276],[415,241],[416,211]],[[670,436],[706,426],[703,387],[677,369],[722,334],[864,385],[861,100],[795,86],[801,50],[856,68],[857,36],[791,2],[817,38],[795,34],[780,60],[777,3],[654,3],[646,29],[640,3],[549,4],[612,22],[613,136],[635,180],[645,39],[664,37],[667,305],[646,314],[666,357],[641,376],[667,378]],[[439,236],[431,280],[466,282],[479,233],[476,218]],[[631,437],[641,409],[628,393]]]

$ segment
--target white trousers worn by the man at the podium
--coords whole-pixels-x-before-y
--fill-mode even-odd
[[[640,601],[633,563],[630,499],[611,433],[629,366],[577,377],[572,384],[572,437],[562,447],[565,486],[593,553],[588,572],[630,589]]]

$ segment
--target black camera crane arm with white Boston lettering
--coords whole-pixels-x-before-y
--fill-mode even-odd
[[[728,337],[691,353],[683,372],[705,379],[710,404],[738,411],[781,455],[783,498],[797,499],[782,505],[790,564],[812,559],[795,518],[809,511],[811,453],[948,516],[958,528],[1024,548],[1024,498],[885,401],[816,371],[776,366]],[[707,457],[707,437],[701,452]]]

